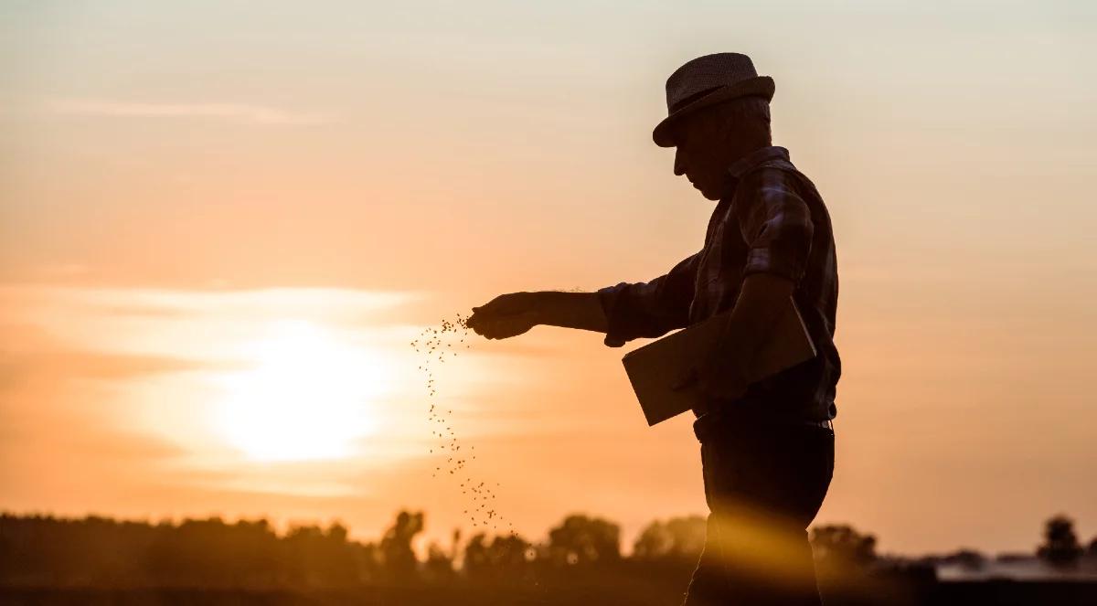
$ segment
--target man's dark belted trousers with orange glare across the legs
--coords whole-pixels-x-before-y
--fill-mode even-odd
[[[704,415],[704,551],[685,606],[818,606],[807,526],[834,473],[834,431]]]

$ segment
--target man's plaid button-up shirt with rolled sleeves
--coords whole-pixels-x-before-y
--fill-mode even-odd
[[[793,300],[818,355],[747,388],[759,412],[825,420],[837,414],[841,362],[834,345],[838,265],[830,216],[815,184],[784,147],[761,147],[736,160],[704,247],[648,282],[598,291],[609,326],[606,345],[659,337],[735,306],[743,280],[769,272],[793,281]]]

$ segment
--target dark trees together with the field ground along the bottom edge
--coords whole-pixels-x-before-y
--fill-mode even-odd
[[[542,543],[513,534],[479,532],[464,539],[454,530],[448,546],[432,542],[420,550],[416,539],[425,527],[421,512],[399,512],[376,542],[362,542],[350,539],[348,529],[338,523],[296,525],[280,534],[264,519],[228,523],[213,517],[155,524],[4,514],[0,516],[0,596],[15,603],[52,604],[53,598],[42,598],[43,592],[76,592],[72,595],[87,597],[92,594],[81,592],[110,588],[147,597],[151,594],[142,592],[168,588],[176,592],[171,595],[184,596],[171,603],[206,602],[214,595],[238,603],[231,597],[242,595],[238,592],[371,591],[389,596],[377,603],[400,604],[505,604],[512,603],[511,598],[541,604],[677,604],[705,537],[701,516],[655,520],[625,556],[617,524],[576,514],[548,529]],[[874,536],[846,525],[817,526],[810,537],[828,604],[949,603],[951,598],[937,583],[938,566],[977,573],[995,562],[1027,559],[1047,561],[1055,570],[1083,563],[1085,570],[1097,568],[1097,540],[1084,550],[1073,521],[1064,516],[1047,521],[1037,549],[1039,560],[1032,553],[995,560],[970,549],[917,560],[880,556]],[[1074,584],[1075,590],[1087,586],[1093,587]],[[963,590],[964,595],[972,591],[976,590]],[[448,598],[439,602],[430,596]],[[343,598],[332,599],[340,603]],[[142,601],[134,597],[133,603]]]

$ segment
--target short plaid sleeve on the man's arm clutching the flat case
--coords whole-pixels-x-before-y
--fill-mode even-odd
[[[743,278],[767,272],[799,284],[812,248],[811,209],[781,169],[764,168],[746,178],[746,203],[736,212],[747,245]]]

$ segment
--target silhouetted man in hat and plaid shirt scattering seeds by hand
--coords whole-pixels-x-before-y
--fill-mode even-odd
[[[732,310],[726,338],[679,381],[706,394],[693,431],[710,515],[690,606],[821,603],[806,528],[834,471],[837,261],[822,197],[771,145],[773,89],[736,53],[698,57],[667,80],[655,143],[677,147],[675,175],[719,201],[700,251],[648,282],[504,294],[468,319],[487,338],[546,324],[606,333],[620,347]],[[737,369],[790,294],[818,355],[747,385]]]

